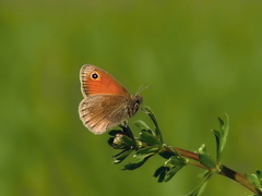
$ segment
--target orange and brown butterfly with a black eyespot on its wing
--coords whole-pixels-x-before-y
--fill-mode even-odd
[[[130,95],[110,74],[91,64],[80,70],[81,90],[79,114],[94,134],[120,125],[139,110],[142,97]]]

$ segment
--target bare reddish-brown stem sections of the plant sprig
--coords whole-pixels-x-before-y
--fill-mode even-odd
[[[186,149],[181,149],[181,148],[176,148],[172,147],[174,150],[176,150],[180,156],[182,157],[187,157],[189,159],[193,159],[196,162],[192,163],[195,167],[202,168],[202,169],[206,169],[210,170],[209,168],[206,168],[205,166],[201,164],[199,161],[199,155],[196,152],[193,151],[189,151]],[[242,186],[247,187],[248,189],[250,189],[251,192],[253,192],[257,195],[262,195],[262,192],[260,189],[258,189],[257,186],[254,186],[242,173],[236,172],[231,169],[229,169],[226,166],[221,166],[219,167],[221,171],[218,171],[217,173],[221,175],[224,175],[226,177],[231,179],[233,181],[238,182],[239,184],[241,184]]]

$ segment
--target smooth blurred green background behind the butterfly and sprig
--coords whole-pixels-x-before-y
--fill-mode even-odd
[[[170,182],[153,177],[154,157],[121,171],[108,135],[79,120],[79,70],[92,63],[130,93],[143,84],[167,144],[214,155],[210,132],[230,117],[223,161],[262,169],[262,1],[76,0],[0,2],[0,195],[174,196],[200,182],[184,168]],[[147,121],[142,112],[130,120]],[[128,162],[128,161],[127,161]],[[126,162],[126,163],[127,163]],[[204,195],[245,195],[214,176]]]

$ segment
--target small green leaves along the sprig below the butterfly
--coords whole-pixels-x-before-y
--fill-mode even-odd
[[[109,132],[109,135],[112,136],[108,139],[109,145],[116,149],[122,149],[122,151],[114,156],[114,163],[120,163],[128,156],[133,154],[134,161],[126,164],[123,170],[134,170],[143,166],[151,157],[160,155],[164,159],[166,159],[166,161],[163,166],[157,168],[154,173],[154,176],[157,177],[157,182],[159,183],[170,181],[177,172],[186,166],[198,166],[205,169],[206,171],[204,172],[202,182],[192,192],[190,192],[188,196],[201,195],[207,184],[207,180],[215,173],[228,176],[239,183],[245,182],[245,186],[247,186],[246,179],[241,179],[241,181],[236,179],[236,172],[224,167],[219,162],[229,130],[228,115],[226,115],[226,124],[221,118],[218,118],[219,131],[213,130],[216,138],[216,160],[214,160],[211,155],[207,154],[206,146],[204,144],[196,152],[190,152],[163,143],[162,133],[155,115],[147,107],[144,108],[143,111],[150,117],[154,126],[152,128],[143,121],[138,121],[135,124],[136,127],[140,128],[139,137],[133,136],[128,124],[120,126],[122,131],[114,130]],[[249,184],[248,187],[253,192],[260,193],[259,189],[262,187],[261,171],[258,170],[255,174],[247,175],[247,179],[254,185],[253,187]]]

